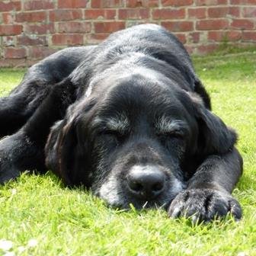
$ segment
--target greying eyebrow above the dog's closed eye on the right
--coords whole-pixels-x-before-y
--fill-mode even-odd
[[[155,122],[155,130],[158,134],[181,132],[187,130],[187,123],[183,120],[170,120],[168,117],[160,117]]]

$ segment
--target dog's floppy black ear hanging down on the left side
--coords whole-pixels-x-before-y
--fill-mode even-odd
[[[79,116],[59,121],[46,143],[46,166],[68,186],[88,185],[86,142],[79,139]]]

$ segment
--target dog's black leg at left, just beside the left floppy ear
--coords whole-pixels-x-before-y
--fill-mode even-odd
[[[44,146],[50,127],[62,119],[75,101],[71,82],[53,85],[48,96],[27,123],[11,136],[0,140],[0,183],[17,178],[21,171],[44,171]]]

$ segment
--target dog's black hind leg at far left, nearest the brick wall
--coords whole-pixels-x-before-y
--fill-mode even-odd
[[[21,84],[8,97],[0,98],[0,138],[20,129],[46,98],[50,87],[69,76],[94,47],[66,48],[31,66]]]

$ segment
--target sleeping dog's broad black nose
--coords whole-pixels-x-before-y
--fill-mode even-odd
[[[127,175],[130,193],[142,200],[158,197],[165,187],[165,174],[157,166],[135,165]]]

